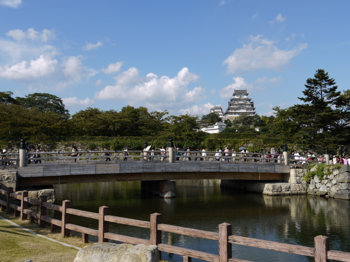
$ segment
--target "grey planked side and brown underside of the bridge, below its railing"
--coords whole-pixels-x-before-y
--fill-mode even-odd
[[[122,161],[30,164],[19,167],[19,186],[176,179],[283,180],[290,167],[280,163],[225,161]]]

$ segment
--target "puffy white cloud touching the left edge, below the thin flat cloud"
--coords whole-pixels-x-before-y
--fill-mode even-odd
[[[54,53],[44,53],[29,62],[23,60],[13,65],[0,65],[0,77],[10,80],[28,80],[48,76],[55,71],[58,64],[53,56]]]

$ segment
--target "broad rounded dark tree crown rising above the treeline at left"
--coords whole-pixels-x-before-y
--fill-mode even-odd
[[[68,110],[58,96],[49,93],[32,93],[25,97],[16,97],[16,101],[27,109],[36,107],[40,112],[53,111],[64,117],[69,118]]]

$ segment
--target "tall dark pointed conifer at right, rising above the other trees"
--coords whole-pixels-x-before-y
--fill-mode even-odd
[[[304,97],[298,97],[303,104],[286,110],[275,107],[277,125],[285,132],[297,133],[296,141],[301,147],[323,151],[324,146],[334,145],[334,139],[341,135],[339,126],[349,117],[346,104],[350,99],[341,95],[335,84],[324,69],[317,69],[314,78],[306,80]]]

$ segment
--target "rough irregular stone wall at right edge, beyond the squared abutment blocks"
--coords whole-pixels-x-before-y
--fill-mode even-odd
[[[316,165],[312,170],[316,170]],[[324,175],[323,179],[319,179],[318,176],[311,178],[307,193],[350,199],[350,166],[341,165],[339,169],[330,167],[330,171],[331,173]]]

